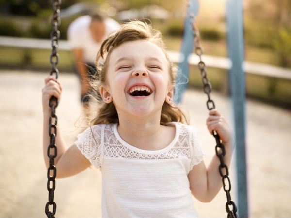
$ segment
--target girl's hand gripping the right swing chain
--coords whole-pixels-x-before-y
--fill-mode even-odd
[[[213,130],[215,130],[224,144],[232,143],[234,141],[225,118],[221,116],[217,109],[210,110],[209,117],[206,120],[206,125],[210,134],[213,135]]]

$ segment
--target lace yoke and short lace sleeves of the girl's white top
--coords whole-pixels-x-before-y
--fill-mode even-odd
[[[114,124],[92,126],[92,132],[94,133],[97,145],[90,128],[86,129],[83,133],[78,134],[78,140],[75,144],[82,154],[97,168],[102,165],[102,157],[148,160],[176,159],[184,157],[191,159],[192,169],[194,165],[203,160],[204,151],[194,128],[178,123],[176,132],[177,131],[178,140],[175,144],[165,152],[156,154],[146,154],[133,151],[123,145],[114,134]]]

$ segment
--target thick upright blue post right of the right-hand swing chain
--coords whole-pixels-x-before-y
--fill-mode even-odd
[[[242,0],[226,2],[227,49],[232,61],[229,71],[229,87],[232,98],[236,138],[236,169],[238,215],[248,217],[247,174],[245,155],[245,74],[243,70],[243,12]]]

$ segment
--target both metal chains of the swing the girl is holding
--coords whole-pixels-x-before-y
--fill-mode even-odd
[[[192,4],[191,0],[188,2],[188,8],[187,8],[187,18],[190,21],[190,25],[192,27],[192,34],[193,34],[193,42],[194,42],[194,51],[196,55],[199,56],[200,62],[198,63],[198,69],[201,73],[202,83],[203,83],[203,91],[207,94],[208,100],[207,100],[207,108],[209,110],[215,109],[214,101],[210,97],[210,92],[212,90],[211,84],[209,82],[209,79],[207,77],[207,69],[205,63],[202,61],[201,56],[203,54],[203,48],[200,45],[200,36],[199,36],[199,30],[197,29],[195,25],[195,14],[193,11],[194,5]],[[61,24],[60,19],[60,5],[61,0],[52,0],[52,8],[53,8],[53,16],[51,18],[51,25],[53,26],[53,31],[50,34],[51,37],[51,46],[52,46],[52,53],[50,55],[50,63],[52,65],[52,69],[50,71],[50,75],[55,74],[55,78],[58,78],[59,71],[57,69],[57,64],[59,62],[59,54],[57,53],[58,49],[58,40],[60,38],[60,31],[58,30],[58,26]],[[187,24],[185,22],[185,24]],[[186,31],[186,28],[185,28]],[[184,33],[185,34],[185,33]],[[193,45],[193,44],[192,44]],[[193,51],[193,46],[188,46],[192,49],[190,52]],[[188,54],[189,55],[189,54]],[[188,55],[184,57],[188,57]],[[186,60],[187,62],[187,60]],[[45,206],[45,213],[48,218],[55,218],[56,208],[57,205],[54,202],[54,190],[55,190],[55,178],[57,174],[57,169],[54,165],[54,158],[57,156],[57,146],[55,145],[56,135],[57,135],[57,121],[58,118],[55,114],[55,109],[58,106],[58,99],[54,96],[51,97],[49,101],[49,107],[51,108],[50,117],[49,117],[49,137],[50,137],[50,144],[48,146],[48,152],[47,155],[49,157],[49,168],[48,168],[48,183],[47,188],[49,191],[49,201],[46,203]],[[52,130],[53,129],[53,130]],[[231,190],[231,184],[230,179],[228,177],[228,167],[224,163],[224,156],[226,154],[225,147],[220,141],[219,135],[213,131],[213,136],[216,140],[216,146],[215,146],[215,152],[220,160],[219,165],[219,173],[222,177],[223,182],[223,189],[226,192],[226,212],[227,212],[227,218],[238,218],[237,215],[237,207],[236,204],[231,200],[230,197],[230,190]],[[219,151],[219,149],[221,151]],[[53,150],[53,152],[52,152]],[[52,152],[52,153],[51,153]],[[226,173],[223,173],[223,168],[225,168]],[[52,176],[50,175],[52,172]],[[228,183],[228,189],[226,189],[226,180]],[[49,211],[49,205],[53,205],[52,211]],[[232,205],[232,210],[229,208],[229,206]]]

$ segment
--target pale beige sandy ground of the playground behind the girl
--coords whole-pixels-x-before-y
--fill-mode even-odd
[[[48,200],[47,170],[42,157],[41,89],[48,73],[0,72],[0,217],[45,217]],[[64,91],[57,109],[60,128],[68,145],[83,128],[76,127],[82,107],[79,81],[73,74],[61,74]],[[231,124],[230,102],[213,93],[217,108]],[[191,125],[198,130],[207,154],[214,155],[215,141],[207,131],[206,96],[188,90],[184,106]],[[250,217],[291,217],[291,111],[247,100],[247,162]],[[80,119],[79,119],[80,120]],[[235,198],[234,164],[232,197]],[[57,217],[101,216],[101,173],[87,169],[57,179]],[[200,217],[226,217],[223,191],[210,203],[194,199]]]

